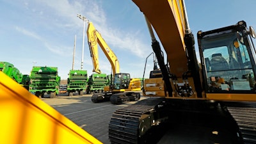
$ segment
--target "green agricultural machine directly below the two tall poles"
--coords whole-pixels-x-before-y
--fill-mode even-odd
[[[67,92],[69,96],[72,96],[74,92],[78,92],[79,95],[83,95],[84,90],[87,88],[87,70],[70,70],[67,80]]]

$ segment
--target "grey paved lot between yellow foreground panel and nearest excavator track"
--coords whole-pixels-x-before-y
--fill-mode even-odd
[[[110,143],[108,124],[112,114],[121,106],[127,106],[134,102],[122,105],[114,105],[111,102],[93,103],[91,97],[92,95],[57,96],[54,99],[43,98],[42,100],[102,143],[108,144]],[[141,97],[141,99],[145,99],[145,97]]]

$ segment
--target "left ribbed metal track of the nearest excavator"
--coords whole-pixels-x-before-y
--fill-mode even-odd
[[[162,101],[161,98],[148,98],[117,109],[109,122],[109,140],[111,143],[139,143],[138,127],[141,116],[156,108]]]

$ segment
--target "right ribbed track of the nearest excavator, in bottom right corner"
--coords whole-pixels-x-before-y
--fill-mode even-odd
[[[256,143],[256,104],[232,104],[227,106],[236,120],[245,144]]]

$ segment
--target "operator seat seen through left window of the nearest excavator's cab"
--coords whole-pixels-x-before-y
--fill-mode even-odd
[[[212,54],[211,70],[227,70],[229,69],[228,62],[223,58],[221,53]]]

